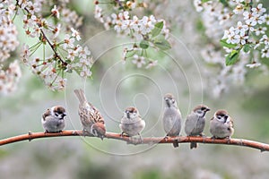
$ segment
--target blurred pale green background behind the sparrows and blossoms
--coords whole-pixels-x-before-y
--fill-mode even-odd
[[[184,121],[196,105],[204,103],[211,107],[206,135],[210,136],[208,122],[214,111],[225,108],[234,119],[234,138],[269,143],[268,76],[258,70],[248,72],[245,84],[231,85],[228,93],[213,98],[199,69],[205,66],[199,54],[203,47],[199,40],[203,37],[195,29],[199,14],[195,13],[192,1],[154,4],[156,12],[160,9],[162,12],[157,13],[157,17],[176,21],[171,26],[171,37],[175,40],[171,50],[154,56],[159,65],[150,70],[137,69],[131,61],[122,64],[123,44],[130,41],[117,37],[113,30],[104,31],[93,17],[91,1],[73,1],[70,5],[84,16],[80,29],[82,39],[97,59],[92,79],[83,81],[75,74],[70,75],[64,92],[51,92],[22,66],[18,90],[0,100],[1,139],[43,131],[41,114],[54,105],[67,108],[66,129],[81,129],[73,90],[82,88],[105,116],[108,132],[120,132],[118,123],[124,109],[136,106],[146,121],[142,135],[164,136],[162,96],[172,92],[178,99]],[[171,19],[173,16],[175,19]],[[20,34],[22,43],[28,43],[22,31]],[[188,144],[181,144],[174,149],[170,144],[133,146],[123,141],[82,137],[39,139],[1,146],[0,164],[0,178],[269,177],[269,154],[256,149],[210,144],[200,144],[193,150]]]

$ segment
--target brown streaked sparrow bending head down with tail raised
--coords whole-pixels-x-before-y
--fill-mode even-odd
[[[100,115],[99,110],[87,101],[83,90],[74,90],[74,94],[80,102],[78,114],[80,115],[83,134],[85,135],[85,132],[88,132],[103,140],[106,134],[106,127],[104,118]]]

